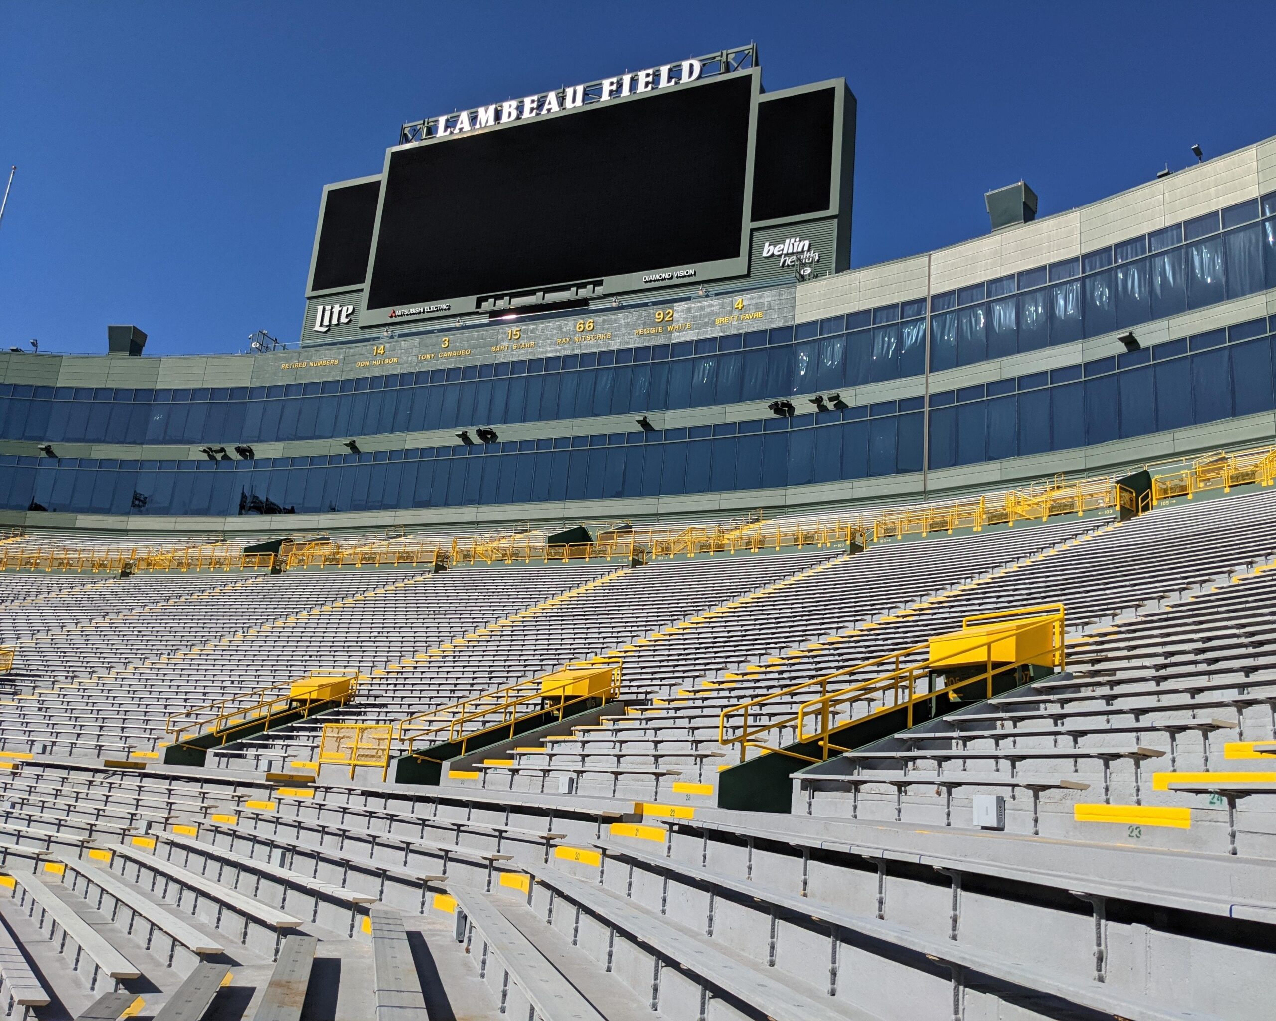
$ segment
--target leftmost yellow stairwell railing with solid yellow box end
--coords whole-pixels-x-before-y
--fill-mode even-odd
[[[359,689],[359,674],[311,673],[300,680],[285,680],[251,692],[234,694],[205,706],[174,713],[165,730],[174,744],[216,735],[218,744],[232,740],[234,734],[264,724],[277,716],[304,719],[311,712],[346,704]]]

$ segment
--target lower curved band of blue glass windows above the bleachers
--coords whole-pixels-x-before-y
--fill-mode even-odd
[[[930,468],[1272,411],[1273,342],[1276,317],[933,393]],[[235,516],[801,486],[920,471],[924,421],[916,396],[792,419],[342,456],[154,462],[5,454],[0,507]]]

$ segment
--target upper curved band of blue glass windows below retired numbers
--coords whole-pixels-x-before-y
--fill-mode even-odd
[[[1276,194],[931,295],[930,371],[1276,287]],[[0,439],[237,444],[471,429],[831,393],[925,371],[926,299],[753,333],[271,387],[0,384]]]

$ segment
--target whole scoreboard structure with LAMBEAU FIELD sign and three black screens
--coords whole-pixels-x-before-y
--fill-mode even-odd
[[[754,46],[404,124],[324,188],[302,345],[810,279],[850,264],[855,97]]]

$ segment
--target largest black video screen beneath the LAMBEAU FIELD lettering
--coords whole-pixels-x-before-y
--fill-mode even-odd
[[[367,306],[734,259],[750,75],[390,154]]]

